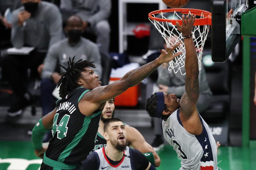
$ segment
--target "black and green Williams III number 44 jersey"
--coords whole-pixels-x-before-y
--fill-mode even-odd
[[[50,140],[46,157],[67,164],[85,160],[94,149],[101,112],[92,116],[83,115],[78,102],[88,92],[80,87],[71,91],[65,99],[57,101],[53,121],[53,139]]]

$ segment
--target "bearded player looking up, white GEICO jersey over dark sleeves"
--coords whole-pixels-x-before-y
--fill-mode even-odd
[[[126,146],[126,126],[117,118],[104,124],[106,147],[93,151],[82,162],[85,170],[133,169],[153,170],[155,167],[138,150]]]

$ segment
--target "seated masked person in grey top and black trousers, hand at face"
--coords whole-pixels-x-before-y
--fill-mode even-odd
[[[48,47],[62,38],[62,19],[57,6],[41,0],[21,0],[23,6],[13,11],[11,42],[15,48],[35,47],[29,55],[7,55],[1,65],[8,73],[8,81],[17,101],[8,110],[9,116],[17,116],[32,103],[26,79],[27,69],[36,72],[43,62]]]

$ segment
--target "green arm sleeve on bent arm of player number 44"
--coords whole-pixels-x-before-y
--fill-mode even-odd
[[[43,135],[50,129],[45,129],[42,124],[42,118],[37,122],[32,130],[32,144],[36,150],[42,148]]]

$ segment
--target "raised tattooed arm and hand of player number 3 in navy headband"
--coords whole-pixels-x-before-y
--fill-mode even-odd
[[[195,21],[195,15],[190,17],[182,16],[182,25],[177,24],[177,28],[183,33],[183,36],[188,36],[192,32],[193,23]],[[195,46],[192,36],[189,38],[184,38],[185,48],[186,48],[186,59],[185,59],[185,70],[186,70],[186,92],[182,95],[180,101],[180,109],[182,114],[186,118],[196,112],[196,103],[199,97],[199,82],[198,82],[198,59],[195,51]]]

